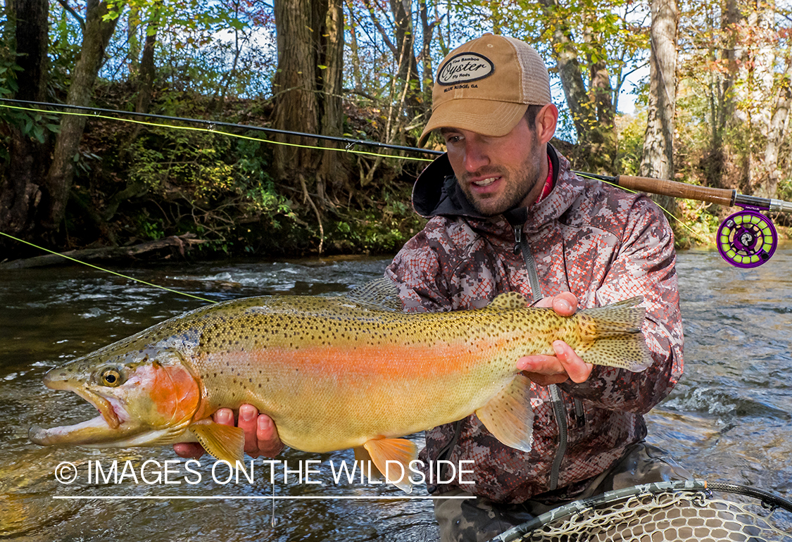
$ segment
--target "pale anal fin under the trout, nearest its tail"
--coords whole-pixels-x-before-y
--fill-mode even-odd
[[[476,410],[478,419],[497,440],[523,452],[530,452],[534,437],[531,409],[531,380],[517,375],[489,403]]]

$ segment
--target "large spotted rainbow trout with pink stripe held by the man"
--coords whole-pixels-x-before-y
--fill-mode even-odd
[[[514,292],[478,310],[408,314],[394,310],[389,281],[372,284],[351,296],[209,305],[52,368],[44,384],[74,391],[100,415],[34,426],[29,437],[94,447],[197,441],[235,464],[242,429],[211,414],[250,403],[272,417],[288,446],[355,448],[379,471],[398,461],[409,472],[416,449],[399,437],[472,413],[505,445],[529,451],[531,382],[516,361],[553,355],[554,340],[597,365],[642,371],[652,362],[640,297],[569,318],[529,308]],[[406,477],[396,485],[410,489]]]

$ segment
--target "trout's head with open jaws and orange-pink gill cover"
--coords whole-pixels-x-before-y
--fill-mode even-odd
[[[114,353],[110,345],[52,368],[44,384],[74,391],[99,416],[74,426],[33,426],[39,445],[142,446],[167,444],[181,434],[200,405],[199,381],[173,348],[146,345]],[[126,350],[126,351],[124,351]]]

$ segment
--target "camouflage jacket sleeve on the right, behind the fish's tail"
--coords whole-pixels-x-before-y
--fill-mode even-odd
[[[643,372],[595,366],[581,384],[562,389],[595,406],[645,414],[660,403],[683,371],[680,295],[671,227],[646,197],[633,201],[615,260],[597,288],[599,306],[643,296],[646,317],[642,328],[653,364]]]

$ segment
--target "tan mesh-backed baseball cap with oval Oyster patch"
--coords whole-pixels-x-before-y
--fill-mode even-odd
[[[550,101],[550,76],[539,53],[524,41],[485,34],[455,48],[440,63],[432,116],[418,146],[435,128],[505,136],[528,105]]]

